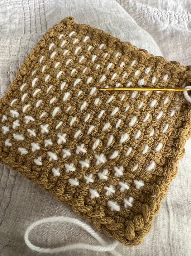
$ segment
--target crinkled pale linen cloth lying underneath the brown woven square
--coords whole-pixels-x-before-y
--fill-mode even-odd
[[[190,64],[190,5],[189,1],[118,0],[6,0],[0,9],[0,94],[3,96],[15,77],[20,64],[42,35],[67,16],[77,23],[101,28],[121,40],[168,60]],[[163,6],[161,5],[163,2]],[[183,2],[183,1],[182,1]],[[163,9],[164,8],[164,9]],[[151,33],[157,41],[146,32]],[[161,53],[162,51],[162,53]],[[187,256],[191,251],[191,140],[178,165],[178,175],[170,185],[161,211],[154,218],[151,232],[144,242],[133,248],[116,247],[128,256]],[[0,255],[36,256],[24,243],[28,225],[49,216],[70,216],[82,220],[51,194],[43,191],[18,172],[0,165]],[[83,221],[83,220],[82,220]],[[108,241],[113,240],[102,234]],[[30,239],[38,246],[55,247],[76,242],[97,244],[84,230],[70,224],[54,224],[34,229]],[[48,254],[47,254],[48,255]],[[73,250],[59,255],[106,256],[109,252]]]

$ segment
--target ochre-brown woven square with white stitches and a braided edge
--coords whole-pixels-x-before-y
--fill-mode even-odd
[[[190,67],[72,17],[53,26],[0,100],[0,162],[126,246],[142,242],[191,131]]]

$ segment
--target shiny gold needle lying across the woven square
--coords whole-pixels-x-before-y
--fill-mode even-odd
[[[162,87],[162,88],[151,88],[151,87],[136,87],[136,88],[126,88],[126,87],[120,87],[120,88],[101,88],[101,91],[191,91],[190,88],[183,88],[183,87]]]

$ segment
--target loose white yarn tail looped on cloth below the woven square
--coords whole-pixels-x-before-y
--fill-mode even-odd
[[[97,239],[97,241],[101,244],[101,246],[86,244],[86,243],[74,243],[74,244],[68,244],[66,246],[61,246],[57,248],[41,248],[41,247],[35,246],[29,241],[29,233],[33,228],[43,223],[53,223],[53,222],[61,222],[61,223],[68,222],[68,223],[76,224],[81,228],[83,228],[84,230],[86,230],[90,235],[92,235],[92,237]],[[108,244],[89,225],[87,225],[86,223],[83,223],[78,219],[74,219],[66,216],[53,216],[53,217],[48,217],[48,218],[35,221],[30,226],[28,226],[27,230],[25,231],[24,241],[30,249],[37,252],[41,252],[41,253],[58,253],[58,252],[65,252],[73,249],[83,249],[83,250],[91,250],[91,251],[99,251],[99,252],[110,252],[114,256],[122,256],[119,252],[114,250],[115,247],[118,246],[119,244],[118,241],[114,241],[113,243]]]

